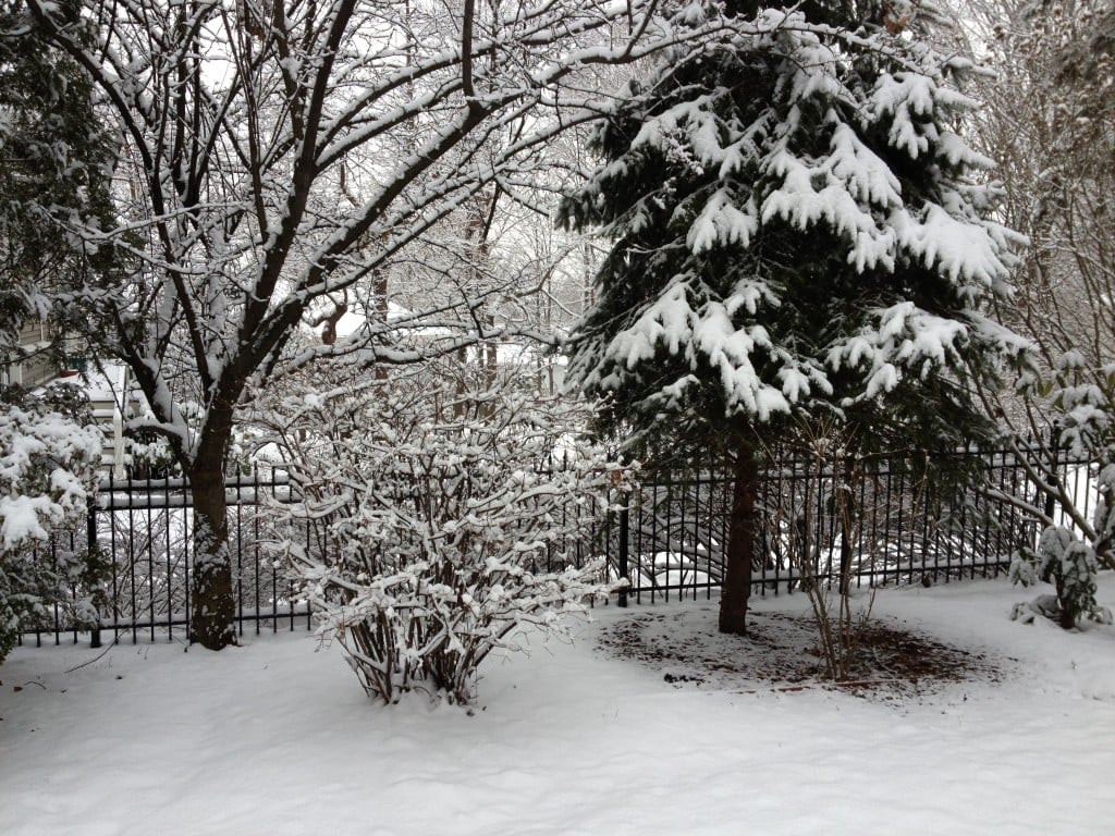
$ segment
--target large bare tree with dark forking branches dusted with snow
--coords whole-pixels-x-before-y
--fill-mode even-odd
[[[318,359],[397,363],[495,337],[481,309],[498,288],[445,282],[390,322],[376,288],[443,218],[544,166],[599,97],[569,84],[579,72],[724,26],[675,32],[656,0],[85,0],[90,45],[58,3],[28,4],[122,133],[118,223],[72,232],[90,249],[135,239],[142,266],[77,301],[190,478],[192,639],[212,649],[234,641],[223,475],[245,400]],[[365,325],[292,340],[334,304]],[[400,347],[432,322],[447,327],[436,346]]]

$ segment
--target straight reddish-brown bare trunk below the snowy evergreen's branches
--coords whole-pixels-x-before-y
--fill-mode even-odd
[[[720,632],[747,634],[747,601],[752,594],[752,561],[755,557],[756,515],[759,468],[755,450],[740,445],[736,453],[736,473],[731,490],[731,521],[728,552],[720,591]]]

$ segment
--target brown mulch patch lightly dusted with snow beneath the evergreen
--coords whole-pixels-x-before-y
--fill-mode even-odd
[[[831,688],[889,699],[1004,678],[1006,660],[875,619],[860,634],[851,677],[835,683],[827,675],[811,613],[754,612],[748,621],[748,635],[734,636],[717,632],[715,604],[634,611],[608,624],[598,644],[611,655],[660,670],[677,688]]]

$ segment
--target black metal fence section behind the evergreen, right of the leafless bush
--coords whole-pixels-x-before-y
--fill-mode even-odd
[[[1039,523],[1025,506],[1072,527],[1014,450],[938,454],[976,470],[979,489],[934,483],[915,461],[922,455],[836,466],[786,450],[775,456],[758,484],[753,593],[792,592],[803,571],[823,582],[846,576],[856,586],[995,577],[1021,547],[1036,545]],[[1089,516],[1094,468],[1065,449],[1045,450],[1044,460]],[[631,581],[627,597],[710,597],[724,575],[731,503],[733,479],[723,468],[646,482],[615,515],[605,546],[610,565]]]

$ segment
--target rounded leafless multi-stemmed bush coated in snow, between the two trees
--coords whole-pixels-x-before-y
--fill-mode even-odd
[[[279,548],[386,703],[469,702],[485,657],[536,634],[518,628],[564,634],[609,590],[588,539],[621,476],[578,440],[588,408],[452,366],[287,398],[269,421],[292,484]]]

